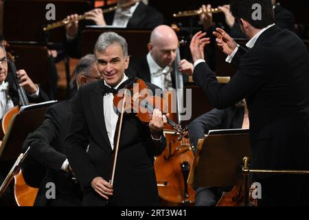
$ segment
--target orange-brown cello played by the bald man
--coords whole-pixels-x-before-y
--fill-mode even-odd
[[[177,64],[180,61],[179,49],[176,50],[176,59],[174,61],[176,78],[176,105],[177,112],[172,114],[181,124],[181,110],[183,103],[183,75],[178,71]],[[171,112],[172,97],[167,96],[169,112]],[[176,133],[170,128],[165,128],[165,138],[167,146],[163,153],[155,158],[155,172],[158,181],[159,197],[163,199],[162,204],[168,206],[192,205],[194,203],[195,193],[190,185],[187,184],[187,178],[194,161],[194,154],[190,141],[187,137],[179,139]]]

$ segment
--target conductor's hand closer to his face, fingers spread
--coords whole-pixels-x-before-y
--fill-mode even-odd
[[[213,32],[213,34],[216,36],[216,43],[220,50],[227,55],[231,55],[237,47],[234,39],[221,28],[216,28],[216,32]]]

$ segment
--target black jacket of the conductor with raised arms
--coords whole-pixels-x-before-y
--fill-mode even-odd
[[[220,85],[206,63],[194,80],[220,109],[246,98],[255,168],[309,168],[309,56],[296,34],[277,25],[233,58],[238,72]]]

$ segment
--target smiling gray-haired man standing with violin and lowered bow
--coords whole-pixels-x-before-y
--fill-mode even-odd
[[[129,63],[127,48],[126,40],[118,34],[100,35],[94,52],[103,80],[81,87],[72,104],[67,158],[84,188],[84,206],[105,206],[106,200],[110,206],[157,206],[159,203],[154,158],[165,148],[166,118],[157,109],[149,126],[135,113],[124,115],[115,181],[113,186],[109,184],[117,146],[114,137],[121,118],[113,105],[113,93],[134,80],[125,74]],[[147,85],[152,91],[158,89]]]

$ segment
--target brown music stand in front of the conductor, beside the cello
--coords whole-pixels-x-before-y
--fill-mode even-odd
[[[249,130],[209,131],[198,141],[188,184],[192,187],[233,186],[242,180],[242,159],[251,155]]]

